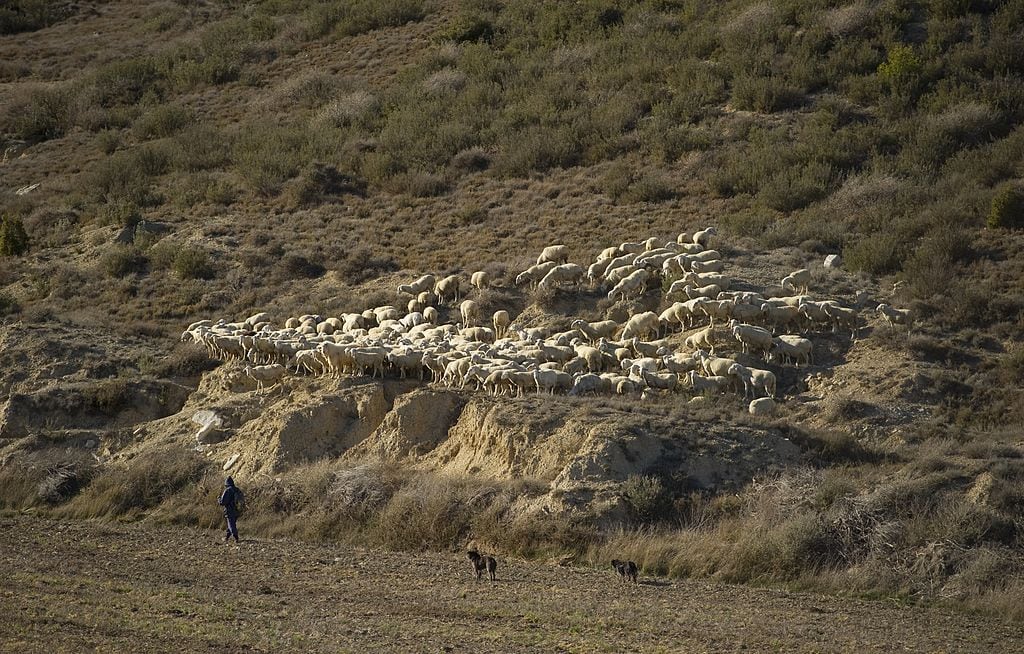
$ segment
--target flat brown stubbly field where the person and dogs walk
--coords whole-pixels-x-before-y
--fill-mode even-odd
[[[0,651],[1024,651],[1024,626],[944,609],[218,538],[0,518]]]

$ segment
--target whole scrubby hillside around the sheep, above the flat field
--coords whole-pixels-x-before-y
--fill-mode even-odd
[[[1022,28],[1024,5],[985,0],[16,0],[0,507],[209,527],[230,462],[264,535],[625,552],[648,573],[1019,616]],[[855,320],[751,318],[811,341],[804,365],[718,323],[719,354],[777,380],[770,416],[683,376],[595,396],[396,368],[257,389],[201,346],[212,332],[182,335],[315,314],[312,339],[454,274],[486,324],[507,310],[571,347],[554,337],[573,320],[662,313],[696,268],[641,265],[617,299],[603,279],[517,285],[545,247],[586,270],[609,247],[681,256],[709,226],[734,292],[782,303],[806,268],[807,299]],[[465,320],[432,303],[438,325]],[[698,317],[618,346],[690,354]]]

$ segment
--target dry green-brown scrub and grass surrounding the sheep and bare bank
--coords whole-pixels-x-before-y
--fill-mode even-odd
[[[892,393],[930,410],[891,433],[866,397],[795,408],[777,427],[806,467],[724,494],[632,479],[610,527],[517,521],[545,492],[526,482],[326,461],[254,481],[247,528],[625,553],[647,573],[1020,618],[1022,30],[1024,4],[988,0],[18,0],[0,9],[0,319],[116,343],[39,376],[2,355],[4,388],[81,374],[113,416],[118,380],[210,367],[163,357],[191,319],[390,302],[396,271],[504,281],[550,243],[579,261],[715,223],[787,263],[838,252],[864,284],[902,281],[916,326],[864,347],[913,361]],[[207,462],[100,468],[59,427],[0,441],[0,506],[213,526]]]

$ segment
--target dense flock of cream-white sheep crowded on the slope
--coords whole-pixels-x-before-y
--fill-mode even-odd
[[[668,243],[624,243],[603,250],[587,269],[568,262],[565,246],[550,246],[515,278],[516,286],[549,292],[601,288],[609,301],[663,295],[660,313],[635,312],[623,323],[577,319],[567,331],[549,333],[517,326],[507,310],[499,310],[484,325],[479,302],[463,297],[488,288],[492,280],[481,271],[470,276],[468,288],[459,275],[426,274],[402,285],[397,294],[408,301],[401,308],[303,315],[283,328],[266,313],[241,322],[202,320],[182,340],[205,345],[213,357],[246,361],[244,374],[258,390],[288,374],[390,374],[520,396],[733,391],[752,399],[751,412],[770,412],[776,379],[759,363],[810,364],[814,347],[807,336],[829,330],[856,338],[859,314],[807,295],[807,269],[782,278],[777,297],[750,285],[737,289],[726,261],[710,248],[713,236],[715,229],[708,228]],[[455,314],[456,307],[460,321],[442,321],[442,312]],[[890,324],[908,321],[905,310],[877,310]],[[689,332],[682,347],[666,338],[677,331]],[[724,349],[734,354],[724,355]]]

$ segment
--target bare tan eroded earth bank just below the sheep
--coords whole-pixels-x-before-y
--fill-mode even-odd
[[[241,479],[323,459],[385,461],[451,475],[528,479],[554,510],[607,511],[631,475],[693,488],[739,485],[799,461],[770,428],[695,418],[683,398],[655,411],[624,400],[495,397],[408,382],[297,379],[256,392],[230,366],[206,374],[177,413],[145,423],[150,443],[198,448]],[[204,429],[197,419],[215,417]]]

